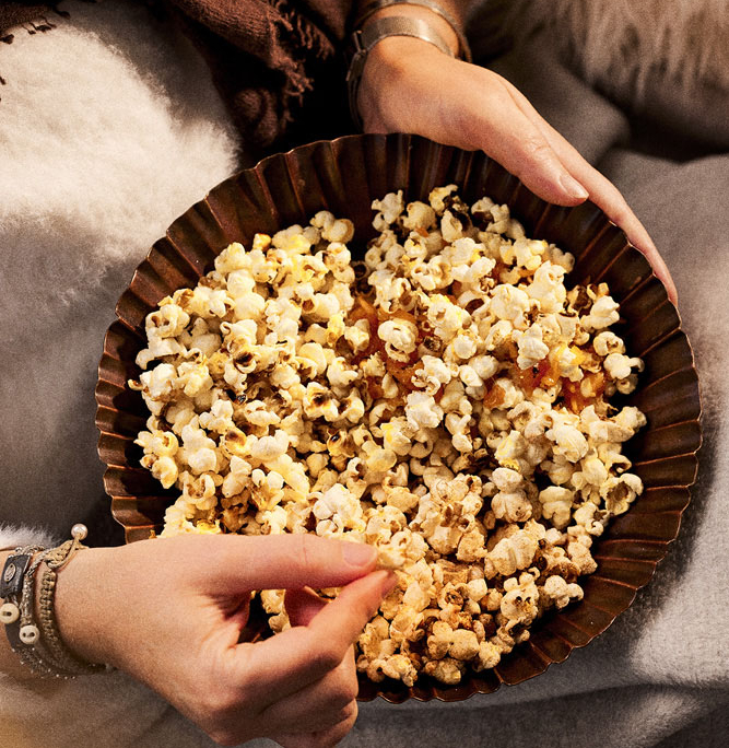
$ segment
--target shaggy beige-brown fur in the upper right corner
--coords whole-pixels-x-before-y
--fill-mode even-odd
[[[534,47],[541,30],[536,49],[556,52],[624,108],[729,145],[727,0],[489,0],[473,24],[477,55],[490,55],[494,35]]]

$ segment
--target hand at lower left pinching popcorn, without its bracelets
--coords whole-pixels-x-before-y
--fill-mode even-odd
[[[161,693],[221,745],[338,743],[356,718],[353,643],[395,584],[369,546],[307,535],[184,536],[78,553],[63,641]],[[344,586],[331,603],[305,587]],[[292,628],[238,642],[251,591],[287,589]]]

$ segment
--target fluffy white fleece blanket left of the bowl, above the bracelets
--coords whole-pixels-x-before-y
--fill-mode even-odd
[[[63,535],[99,491],[87,375],[116,300],[240,155],[187,39],[142,3],[64,7],[52,32],[0,45],[0,518],[22,505]]]

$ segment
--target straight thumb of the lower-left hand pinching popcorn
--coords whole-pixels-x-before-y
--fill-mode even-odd
[[[377,560],[372,546],[315,535],[225,535],[216,540],[205,571],[227,594],[341,587],[373,571]]]

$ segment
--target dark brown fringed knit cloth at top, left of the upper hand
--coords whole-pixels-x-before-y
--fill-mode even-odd
[[[195,42],[247,143],[289,148],[351,127],[341,47],[352,0],[141,1]],[[0,3],[0,40],[17,26],[50,31],[68,15],[58,4]]]

